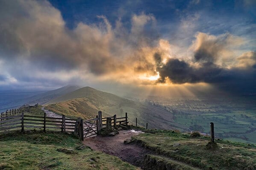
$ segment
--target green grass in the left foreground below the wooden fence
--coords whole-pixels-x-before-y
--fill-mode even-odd
[[[77,150],[82,143],[64,133],[9,134],[0,136],[0,170],[136,170],[115,156]],[[57,149],[73,149],[71,154]]]

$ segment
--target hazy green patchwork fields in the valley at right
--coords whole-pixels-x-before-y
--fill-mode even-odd
[[[149,100],[172,114],[182,131],[209,134],[214,122],[218,138],[256,144],[256,100],[252,99],[162,99]]]

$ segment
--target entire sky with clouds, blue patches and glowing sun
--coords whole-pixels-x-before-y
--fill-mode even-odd
[[[256,94],[256,1],[0,0],[1,90],[68,84]]]

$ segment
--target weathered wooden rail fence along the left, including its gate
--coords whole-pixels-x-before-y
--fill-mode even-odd
[[[22,106],[18,111],[22,111],[25,106]],[[16,112],[13,112],[17,114]],[[127,113],[125,117],[117,118],[116,115],[112,117],[103,117],[102,112],[99,111],[96,118],[82,120],[66,118],[65,115],[62,117],[47,117],[46,113],[44,116],[35,116],[35,115],[24,115],[21,114],[15,115],[9,114],[9,116],[1,116],[0,121],[0,133],[9,133],[11,131],[21,130],[51,130],[51,131],[61,131],[67,133],[74,133],[83,140],[87,137],[94,136],[99,134],[101,129],[106,128],[107,118],[111,118],[111,126],[118,128],[119,126],[128,125]]]

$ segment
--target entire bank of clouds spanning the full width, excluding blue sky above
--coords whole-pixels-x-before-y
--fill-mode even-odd
[[[201,17],[199,13],[182,17],[181,31],[169,36],[194,35]],[[119,17],[113,24],[99,15],[94,23],[78,21],[68,28],[61,12],[46,0],[0,1],[0,85],[100,81],[138,86],[200,82],[218,88],[242,86],[237,81],[250,88],[255,85],[256,52],[241,50],[245,38],[198,31],[184,40],[190,46],[179,47],[171,41],[175,38],[163,38],[159,27],[153,14],[141,12],[131,14],[126,23]]]

